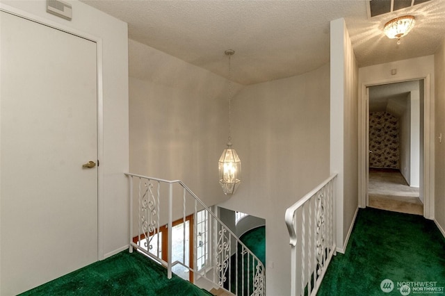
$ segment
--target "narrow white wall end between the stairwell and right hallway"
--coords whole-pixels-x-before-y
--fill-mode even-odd
[[[358,67],[344,19],[331,22],[330,49],[330,172],[338,174],[337,250],[344,252],[358,209]]]

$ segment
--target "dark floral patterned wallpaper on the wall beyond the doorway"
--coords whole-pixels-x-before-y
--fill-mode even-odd
[[[398,169],[398,118],[387,112],[369,114],[369,167]]]

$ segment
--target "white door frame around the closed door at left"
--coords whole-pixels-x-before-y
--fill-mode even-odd
[[[46,3],[46,2],[45,2]],[[70,26],[65,26],[50,19],[33,15],[24,10],[20,10],[6,4],[0,3],[0,11],[29,19],[32,22],[55,28],[56,30],[75,35],[79,38],[90,40],[96,43],[96,69],[97,69],[97,160],[104,156],[104,90],[103,90],[103,52],[102,38],[90,33],[79,31]],[[97,163],[97,260],[104,259],[104,172],[100,170]]]

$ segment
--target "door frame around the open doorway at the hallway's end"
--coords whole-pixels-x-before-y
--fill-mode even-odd
[[[422,80],[424,83],[424,110],[423,110],[423,217],[434,219],[434,104],[431,101],[430,74],[426,76],[411,76],[369,81],[359,85],[359,207],[368,206],[368,161],[369,161],[369,92],[368,88],[374,85],[398,83],[404,81]]]

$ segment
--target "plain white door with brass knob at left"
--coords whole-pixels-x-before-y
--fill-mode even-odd
[[[96,43],[1,12],[0,295],[97,261]]]

